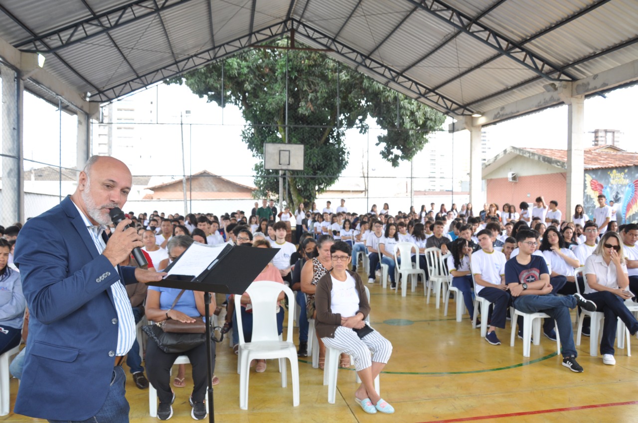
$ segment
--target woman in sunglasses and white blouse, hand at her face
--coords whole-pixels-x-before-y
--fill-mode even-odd
[[[585,261],[586,285],[584,298],[596,303],[597,311],[605,313],[600,340],[600,354],[604,364],[614,365],[616,320],[619,317],[629,332],[638,333],[638,320],[625,306],[625,300],[634,297],[629,291],[627,262],[623,243],[618,233],[606,232],[593,254]]]

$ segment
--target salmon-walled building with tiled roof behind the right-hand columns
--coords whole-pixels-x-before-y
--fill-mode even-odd
[[[638,154],[625,152],[618,147],[603,145],[584,150],[585,173],[594,169],[609,169],[614,173],[627,175],[624,185],[612,188],[614,194],[608,195],[608,198],[615,198],[618,204],[622,204],[627,183],[638,179],[637,166]],[[551,200],[558,201],[558,209],[563,212],[563,216],[570,215],[573,210],[565,210],[566,169],[567,150],[508,147],[483,165],[482,178],[486,181],[487,203],[496,203],[500,208],[505,203],[514,204],[518,211],[522,201],[533,203],[537,196],[542,195],[547,203]],[[583,182],[584,178],[585,176]],[[591,215],[595,204],[590,198],[593,193],[590,194],[587,187],[584,188],[585,212]],[[475,204],[475,208],[480,210],[482,204]]]

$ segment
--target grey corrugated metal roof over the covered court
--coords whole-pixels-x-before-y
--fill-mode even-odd
[[[246,46],[251,27],[260,32],[254,43],[301,25],[299,39],[318,48],[355,50],[359,55],[330,56],[445,113],[493,110],[543,93],[550,80],[526,67],[530,62],[522,57],[545,63],[542,72],[564,68],[576,79],[638,60],[635,0],[85,2],[91,10],[82,0],[3,0],[0,38],[26,51],[38,46],[47,71],[78,92],[91,92],[92,101],[177,75],[190,57],[203,65],[213,46],[222,54]],[[98,22],[94,14],[104,16]],[[465,32],[454,25],[459,15],[468,25]],[[494,48],[494,39],[505,48],[516,43],[523,52],[508,57]],[[24,44],[29,40],[35,44]],[[447,99],[420,96],[432,89]]]

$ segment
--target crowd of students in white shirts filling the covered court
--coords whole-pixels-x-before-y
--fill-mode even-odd
[[[609,315],[605,322],[610,323],[603,328],[600,345],[605,364],[614,363],[612,345],[616,334],[616,317],[623,319],[632,333],[638,331],[638,323],[630,313],[625,313],[622,304],[628,298],[635,301],[632,292],[638,292],[638,247],[635,245],[638,241],[638,225],[618,226],[613,208],[607,205],[604,195],[598,196],[599,206],[591,219],[584,213],[581,204],[575,207],[574,213],[563,214],[558,210],[557,201],[545,203],[542,196],[536,198],[531,210],[524,201],[518,208],[514,204],[503,204],[501,210],[498,204],[486,203],[480,213],[476,213],[470,203],[461,204],[459,209],[452,204],[449,210],[445,204],[441,204],[438,210],[434,203],[429,208],[423,204],[419,212],[412,206],[409,212],[397,212],[396,215],[390,213],[388,203],[384,203],[380,210],[375,204],[369,212],[362,214],[350,212],[343,199],[336,210],[327,202],[321,212],[313,203],[307,207],[299,204],[294,213],[286,208],[284,212],[277,213],[272,201],[270,205],[267,203],[267,200],[263,200],[262,207],[255,203],[250,215],[241,210],[221,216],[212,213],[167,215],[154,211],[137,216],[130,213],[130,218],[144,243],[142,250],[152,259],[158,271],[170,262],[167,247],[175,236],[186,236],[212,245],[256,243],[262,248],[278,248],[271,268],[264,269],[264,272],[267,278],[281,279],[290,285],[296,292],[297,304],[306,308],[307,313],[302,313],[304,319],[299,322],[298,354],[302,357],[308,355],[308,319],[316,317],[313,306],[316,282],[330,270],[329,252],[336,240],[343,240],[352,248],[354,272],[357,269],[361,271],[357,261],[359,253],[367,255],[368,283],[375,283],[380,264],[387,265],[390,289],[396,289],[394,273],[398,264],[395,259],[397,243],[410,242],[415,245],[410,259],[419,262],[422,269],[426,269],[424,252],[427,248],[438,248],[441,255],[450,254],[446,264],[452,276],[452,285],[461,291],[470,317],[474,312],[473,296],[486,298],[493,303],[486,335],[486,340],[493,345],[500,344],[497,331],[505,327],[508,306],[512,305],[512,301],[514,306],[521,306],[521,310],[533,308],[528,304],[530,299],[521,301],[531,290],[535,291],[535,295],[543,296],[541,303],[549,301],[554,308],[560,308],[561,316],[568,308],[583,306],[585,299],[591,299],[597,305],[597,310],[605,313],[605,317]],[[563,216],[569,219],[561,220]],[[290,237],[293,221],[294,237],[291,243],[286,239],[290,240],[287,237]],[[0,227],[0,235],[8,240],[10,251],[7,268],[12,268],[11,253],[19,229],[19,224],[6,229]],[[398,257],[399,262],[401,258]],[[512,263],[509,266],[510,273],[516,278],[511,276],[512,280],[508,280],[506,263]],[[535,288],[519,288],[519,285],[526,283],[520,280],[516,270],[529,263],[533,263],[540,271],[537,272],[540,276],[528,284]],[[577,279],[575,269],[582,266],[585,266],[584,278]],[[607,269],[607,273],[603,273],[604,269]],[[273,276],[275,272],[279,278]],[[582,299],[571,297],[577,292],[577,285],[583,293]],[[515,286],[516,290],[512,290]],[[525,293],[526,289],[530,289],[530,292]],[[562,303],[546,299],[554,298],[555,294],[563,294],[569,299]],[[237,324],[232,301],[226,303],[225,332]],[[242,300],[242,315],[246,314],[246,305],[249,305],[249,298]],[[590,305],[588,307],[591,308]],[[282,317],[278,319],[279,326]],[[554,319],[555,316],[547,319],[543,331],[552,340],[556,338]],[[564,316],[561,319],[564,320]],[[558,326],[561,340],[563,326],[564,322]],[[582,329],[586,336],[590,332],[589,326],[586,319]],[[244,331],[249,331],[249,328],[249,324],[244,324]],[[519,333],[521,331],[519,324]],[[567,332],[565,329],[565,336],[568,336]],[[250,338],[249,333],[244,333],[244,336]],[[236,333],[233,338],[236,344]],[[325,349],[321,341],[320,347],[323,360]],[[575,362],[575,353],[569,343],[564,343],[563,348],[563,364],[574,371],[582,371]],[[323,362],[321,364],[323,366]],[[348,357],[342,357],[341,366],[349,365]],[[258,362],[256,369],[265,370],[265,362]],[[155,376],[149,377],[151,382],[156,382]],[[174,386],[181,387],[179,382],[183,380],[184,371],[181,368]],[[140,380],[138,387],[143,389],[147,386],[147,382],[146,385],[144,382]],[[218,379],[213,383],[218,383]],[[163,386],[165,397],[168,396],[167,389]]]

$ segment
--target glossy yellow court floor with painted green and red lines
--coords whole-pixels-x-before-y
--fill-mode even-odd
[[[377,279],[378,281],[378,279]],[[214,389],[217,422],[638,422],[638,359],[627,348],[616,349],[616,365],[607,366],[589,354],[589,338],[577,346],[584,373],[561,366],[556,343],[544,336],[523,357],[523,341],[510,347],[510,322],[499,329],[501,345],[489,345],[472,329],[468,315],[456,322],[454,299],[449,314],[434,296],[426,304],[423,285],[401,297],[383,289],[371,290],[371,324],[392,341],[394,352],[381,375],[381,395],[396,408],[392,415],[368,415],[354,401],[355,372],[339,369],[336,403],[327,401],[323,372],[313,369],[311,357],[299,359],[300,404],[292,406],[292,384],[281,387],[276,361],[265,373],[252,369],[248,410],[239,408],[237,356],[228,342],[218,344],[215,373],[221,383]],[[575,313],[572,312],[575,333]],[[286,330],[286,329],[285,329]],[[575,336],[575,335],[574,335]],[[295,328],[295,343],[298,338]],[[638,340],[631,338],[638,355]],[[128,371],[128,368],[125,369]],[[174,368],[175,375],[177,369]],[[191,421],[188,397],[192,388],[190,367],[186,388],[175,389],[172,421]],[[11,409],[18,381],[11,380]],[[55,387],[51,387],[55,389]],[[140,391],[129,376],[127,398],[131,422],[157,421],[149,416],[148,390]],[[0,421],[29,419],[10,413]],[[207,420],[205,420],[207,421]]]

